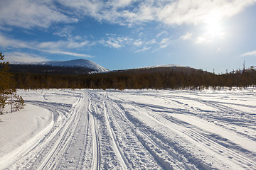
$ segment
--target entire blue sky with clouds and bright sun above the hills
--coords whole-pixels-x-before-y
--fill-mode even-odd
[[[0,0],[6,61],[92,60],[107,69],[256,66],[255,0]]]

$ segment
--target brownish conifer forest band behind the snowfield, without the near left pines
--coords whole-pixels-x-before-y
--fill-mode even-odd
[[[100,74],[12,72],[17,89],[220,89],[256,85],[256,71],[213,74],[191,68],[131,69]]]

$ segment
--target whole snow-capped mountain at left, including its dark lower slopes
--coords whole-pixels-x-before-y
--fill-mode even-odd
[[[48,62],[11,62],[11,72],[91,74],[107,71],[109,70],[100,66],[99,64],[85,59]]]

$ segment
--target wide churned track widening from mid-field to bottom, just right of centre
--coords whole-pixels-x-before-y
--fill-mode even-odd
[[[167,165],[157,154],[151,142],[145,143],[142,132],[129,120],[126,113],[119,107],[117,102],[112,101],[108,96],[107,106],[110,107],[112,124],[114,124],[114,131],[118,133],[118,140],[121,140],[121,145],[127,162],[129,162],[129,169],[170,169],[171,166]],[[124,136],[123,136],[124,135]],[[147,137],[146,139],[149,139]],[[127,150],[129,148],[129,150]],[[135,159],[136,158],[136,159]],[[142,164],[138,166],[139,164]],[[144,165],[144,166],[143,166]],[[128,167],[127,167],[128,168]]]

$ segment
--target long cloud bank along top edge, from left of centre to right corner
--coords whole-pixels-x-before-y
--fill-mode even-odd
[[[234,16],[255,0],[161,0],[161,1],[79,1],[59,0],[70,11],[92,16],[98,21],[130,26],[136,23],[159,21],[168,25],[206,23],[213,13],[223,19]]]

